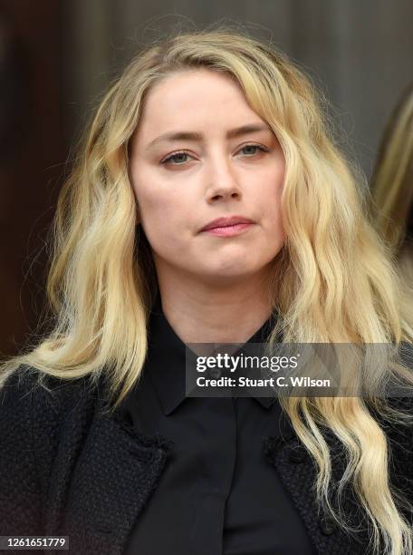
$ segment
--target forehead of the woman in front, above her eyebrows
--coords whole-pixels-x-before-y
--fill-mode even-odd
[[[239,83],[225,73],[194,69],[169,75],[153,85],[146,96],[137,132],[148,133],[208,126],[236,127],[248,118],[262,122],[245,99]],[[148,135],[148,136],[147,136]]]

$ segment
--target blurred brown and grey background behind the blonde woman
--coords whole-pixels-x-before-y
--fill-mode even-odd
[[[412,21],[411,0],[0,0],[0,355],[34,332],[72,148],[139,48],[215,22],[271,39],[331,102],[342,150],[370,179],[412,79]]]

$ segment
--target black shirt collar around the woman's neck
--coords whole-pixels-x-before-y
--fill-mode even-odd
[[[264,343],[276,323],[271,315],[245,343]],[[186,399],[186,345],[177,336],[165,317],[159,294],[149,316],[149,348],[147,366],[164,414],[171,414]],[[257,397],[269,409],[273,397]]]

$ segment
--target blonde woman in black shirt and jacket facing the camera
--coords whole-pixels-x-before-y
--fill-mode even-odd
[[[187,344],[410,347],[365,202],[271,45],[218,28],[139,54],[60,195],[53,330],[4,364],[2,535],[411,553],[411,397],[185,398]]]

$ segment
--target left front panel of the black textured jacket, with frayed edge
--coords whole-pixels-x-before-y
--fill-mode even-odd
[[[161,437],[138,435],[116,413],[101,408],[99,404],[88,433],[78,438],[78,456],[63,441],[53,469],[47,530],[69,536],[69,549],[79,555],[122,553],[133,522],[157,486],[170,445]],[[72,429],[87,409],[79,406],[74,413]],[[84,424],[74,428],[84,433]]]

